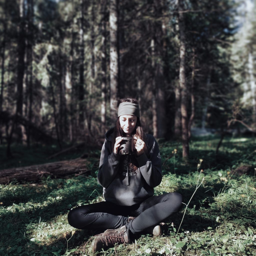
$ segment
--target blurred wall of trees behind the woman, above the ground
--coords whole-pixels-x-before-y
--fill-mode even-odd
[[[0,143],[102,145],[121,98],[144,130],[254,136],[255,0],[0,0]]]

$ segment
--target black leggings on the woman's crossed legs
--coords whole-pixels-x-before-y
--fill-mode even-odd
[[[105,201],[72,209],[68,222],[74,228],[90,230],[116,229],[126,225],[133,234],[138,234],[178,211],[181,204],[182,195],[177,192],[152,196],[132,206]],[[128,216],[137,218],[128,223]]]

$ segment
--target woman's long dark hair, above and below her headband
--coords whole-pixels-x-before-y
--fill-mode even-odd
[[[122,102],[131,102],[131,103],[134,103],[134,104],[138,104],[138,101],[136,99],[132,99],[132,98],[121,99],[119,104],[122,103]],[[118,119],[116,120],[116,125],[114,127],[114,133],[113,133],[113,139],[112,139],[112,150],[113,150],[114,145],[115,145],[115,138],[119,137],[119,136],[126,137],[126,134],[123,131],[121,125],[120,125],[119,117],[118,117]],[[133,138],[134,137],[140,138],[141,140],[143,140],[145,142],[146,147],[144,148],[144,152],[147,154],[147,151],[148,151],[147,136],[144,133],[142,127],[141,127],[141,121],[140,121],[140,118],[138,116],[137,116],[137,123],[136,123],[135,129],[132,133],[132,137]]]

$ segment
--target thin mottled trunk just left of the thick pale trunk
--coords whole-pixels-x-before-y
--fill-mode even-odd
[[[106,130],[106,92],[107,92],[107,30],[106,30],[106,0],[102,0],[102,53],[101,53],[101,132],[105,133]]]

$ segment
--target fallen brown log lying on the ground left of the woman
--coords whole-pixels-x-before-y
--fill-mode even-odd
[[[86,173],[87,160],[77,158],[54,163],[31,165],[19,168],[0,170],[0,184],[8,184],[13,180],[17,181],[37,181],[43,176],[63,177],[73,173]]]

